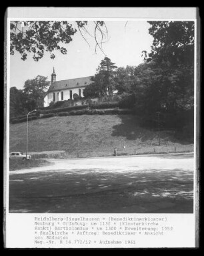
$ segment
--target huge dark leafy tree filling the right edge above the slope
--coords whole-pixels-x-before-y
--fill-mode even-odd
[[[153,45],[149,54],[143,51],[145,69],[135,70],[139,84],[143,85],[137,100],[146,113],[162,112],[167,116],[168,126],[181,128],[193,120],[194,22],[149,23]]]

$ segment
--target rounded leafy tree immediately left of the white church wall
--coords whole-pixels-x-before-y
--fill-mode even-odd
[[[50,82],[47,81],[45,76],[37,76],[34,79],[26,80],[23,93],[27,96],[27,109],[43,107],[43,99],[45,97],[45,89],[49,86]]]

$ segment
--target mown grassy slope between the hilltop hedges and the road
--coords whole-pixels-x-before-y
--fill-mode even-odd
[[[25,151],[26,122],[11,124],[10,152]],[[158,146],[157,132],[139,127],[131,115],[63,116],[29,122],[29,152],[67,150],[69,156],[108,156],[113,149],[128,154],[149,152],[193,151],[193,144],[179,142],[171,134],[161,132]]]

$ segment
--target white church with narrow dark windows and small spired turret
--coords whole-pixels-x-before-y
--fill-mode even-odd
[[[56,81],[55,68],[51,74],[51,85],[44,98],[44,107],[49,106],[51,102],[59,102],[60,100],[73,100],[73,94],[83,97],[83,90],[91,81],[91,76],[85,78],[74,78],[68,80]]]

